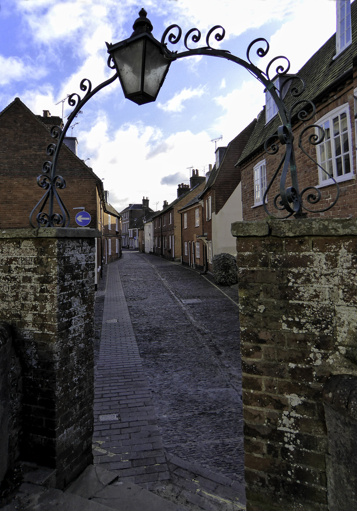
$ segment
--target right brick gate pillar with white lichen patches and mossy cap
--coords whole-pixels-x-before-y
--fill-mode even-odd
[[[333,375],[357,376],[357,220],[236,222],[231,232],[247,511],[327,511],[323,389]]]

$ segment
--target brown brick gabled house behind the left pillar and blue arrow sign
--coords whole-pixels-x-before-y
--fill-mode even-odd
[[[0,203],[0,227],[2,229],[30,227],[30,213],[44,193],[36,180],[43,173],[43,162],[48,159],[46,147],[54,142],[49,129],[54,125],[63,126],[62,119],[52,117],[47,110],[44,110],[43,116],[35,115],[19,98],[15,98],[0,112],[0,186],[3,190]],[[102,180],[67,144],[76,149],[73,140],[68,142],[65,139],[59,154],[57,169],[58,174],[62,175],[66,181],[66,188],[60,190],[59,195],[70,215],[69,227],[79,227],[75,221],[76,214],[78,211],[85,210],[91,217],[88,227],[102,231],[105,238],[108,212],[116,218],[120,216],[112,206],[106,203]],[[33,221],[36,221],[35,218]],[[120,236],[120,222],[118,226],[116,236]],[[105,257],[103,245],[99,239],[96,240],[96,284]]]

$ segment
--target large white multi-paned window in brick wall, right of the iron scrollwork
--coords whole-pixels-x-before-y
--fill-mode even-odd
[[[336,181],[351,179],[351,128],[348,104],[335,108],[319,124],[325,130],[325,138],[317,146],[317,161]],[[319,168],[320,184],[332,184],[333,181]]]

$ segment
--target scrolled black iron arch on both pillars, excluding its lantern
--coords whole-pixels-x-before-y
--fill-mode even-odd
[[[140,13],[139,13],[140,14]],[[337,193],[335,199],[326,207],[320,210],[312,210],[310,207],[304,205],[304,200],[307,201],[308,205],[317,204],[322,197],[321,191],[314,186],[308,186],[304,188],[301,192],[299,190],[298,185],[298,177],[297,177],[297,168],[295,161],[295,153],[294,153],[294,135],[292,132],[292,120],[293,118],[300,120],[301,122],[307,122],[311,120],[315,115],[315,106],[312,101],[302,98],[302,94],[306,89],[305,82],[297,75],[289,75],[290,70],[290,61],[287,57],[283,55],[279,55],[271,59],[266,66],[265,71],[257,67],[253,63],[252,53],[253,49],[255,50],[255,54],[259,58],[266,57],[269,52],[269,43],[265,38],[257,38],[254,39],[247,48],[246,57],[247,60],[244,60],[240,57],[232,55],[228,50],[220,50],[212,47],[210,41],[213,37],[215,41],[220,42],[225,37],[225,30],[220,25],[215,25],[212,27],[206,36],[206,45],[198,48],[189,48],[189,42],[197,45],[201,40],[201,32],[197,28],[193,28],[186,32],[183,43],[185,47],[185,51],[178,53],[173,52],[168,49],[168,43],[173,45],[177,44],[182,37],[182,29],[174,24],[170,25],[163,33],[161,38],[161,45],[164,51],[164,55],[168,60],[176,60],[182,57],[187,56],[195,56],[195,55],[209,55],[213,57],[220,57],[235,62],[240,66],[247,69],[249,73],[251,73],[260,83],[262,83],[266,89],[270,92],[272,99],[274,100],[281,124],[278,127],[277,131],[271,134],[267,141],[264,144],[265,150],[268,154],[275,155],[278,153],[279,148],[281,146],[285,147],[285,152],[282,155],[280,162],[273,174],[272,179],[270,180],[267,189],[265,191],[263,197],[263,205],[267,214],[271,215],[272,213],[268,210],[267,204],[267,196],[268,193],[277,188],[274,185],[275,180],[279,173],[281,173],[280,181],[278,185],[278,193],[275,195],[272,204],[274,208],[279,212],[286,213],[282,217],[278,218],[288,218],[292,215],[295,216],[303,216],[305,215],[302,210],[305,211],[314,211],[314,212],[323,212],[327,211],[334,204],[336,204],[339,197],[339,188],[338,183],[334,179],[333,176],[328,174],[328,172],[321,167],[317,161],[315,161],[310,154],[303,148],[303,135],[306,133],[308,129],[317,130],[320,135],[318,135],[315,131],[314,134],[308,137],[308,142],[314,146],[320,144],[323,141],[324,132],[320,126],[311,125],[305,126],[299,136],[298,146],[303,151],[303,153],[308,156],[314,163],[323,171],[331,182],[334,182],[337,187]],[[167,39],[167,42],[166,42]],[[114,68],[114,63],[112,61],[112,57],[108,57],[107,61],[108,67],[111,69]],[[275,74],[272,77],[271,72],[274,69]],[[100,89],[110,84],[117,78],[117,73],[112,76],[109,80],[104,81],[102,84],[98,85],[95,89],[92,90],[91,82],[87,79],[84,79],[80,83],[80,89],[85,91],[86,94],[83,99],[75,92],[68,97],[68,104],[70,106],[74,106],[74,110],[69,115],[67,123],[63,129],[63,131],[58,127],[54,126],[51,130],[51,135],[54,138],[58,138],[57,144],[49,144],[47,146],[46,152],[47,155],[53,156],[52,161],[46,160],[42,166],[42,174],[38,177],[37,183],[38,185],[46,190],[46,193],[43,195],[41,200],[36,204],[33,211],[30,215],[30,223],[32,223],[32,216],[35,211],[39,209],[39,213],[36,216],[37,226],[68,226],[69,225],[69,214],[66,210],[61,198],[58,195],[57,189],[64,189],[66,186],[65,180],[56,174],[56,166],[58,160],[59,150],[62,146],[64,136],[72,123],[73,119],[76,117],[79,110],[83,107],[83,105]],[[279,78],[278,86],[274,83],[275,78]],[[292,98],[292,104],[290,102],[284,101],[284,92],[289,91],[289,97]],[[288,106],[289,105],[289,109]],[[274,185],[274,186],[273,186]],[[54,201],[56,200],[61,213],[54,213]],[[49,205],[49,213],[44,213],[45,205]],[[274,216],[274,215],[273,215]]]

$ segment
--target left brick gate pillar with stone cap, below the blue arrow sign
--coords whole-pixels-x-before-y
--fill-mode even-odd
[[[63,488],[92,460],[94,229],[0,231],[0,320],[22,364],[20,456]]]

